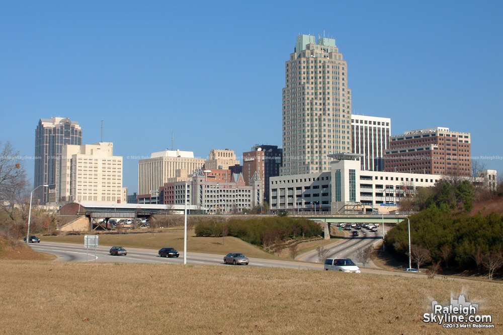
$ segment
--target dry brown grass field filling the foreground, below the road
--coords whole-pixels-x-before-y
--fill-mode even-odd
[[[503,332],[498,284],[256,267],[0,261],[6,334]],[[494,329],[426,324],[465,293]]]

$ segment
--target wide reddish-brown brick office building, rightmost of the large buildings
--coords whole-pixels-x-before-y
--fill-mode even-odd
[[[385,171],[471,176],[470,133],[437,127],[391,136]]]

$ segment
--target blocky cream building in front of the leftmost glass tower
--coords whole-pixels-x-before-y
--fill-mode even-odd
[[[113,143],[65,145],[57,164],[61,202],[122,200],[122,156],[113,155]]]

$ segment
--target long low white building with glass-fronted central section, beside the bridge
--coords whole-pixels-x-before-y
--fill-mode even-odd
[[[398,172],[362,171],[360,154],[330,155],[331,171],[314,174],[271,177],[269,201],[271,210],[304,209],[341,213],[372,212],[377,208],[396,208],[407,194],[417,188],[432,187],[439,175]],[[487,174],[486,172],[482,172]],[[497,179],[489,173],[491,180]],[[468,177],[465,177],[471,181]],[[479,177],[475,183],[483,183]]]

